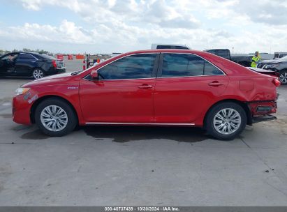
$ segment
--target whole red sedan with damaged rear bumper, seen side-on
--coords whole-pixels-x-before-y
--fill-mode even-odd
[[[51,136],[77,125],[198,126],[233,139],[246,124],[274,119],[279,84],[207,52],[128,52],[24,84],[13,99],[13,121],[36,123]]]

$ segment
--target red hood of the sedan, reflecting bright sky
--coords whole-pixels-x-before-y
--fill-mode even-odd
[[[68,80],[71,79],[71,73],[64,73],[59,75],[52,75],[49,77],[43,77],[42,79],[36,79],[32,82],[23,84],[22,87],[33,87],[33,86],[47,86],[54,84],[68,84]]]

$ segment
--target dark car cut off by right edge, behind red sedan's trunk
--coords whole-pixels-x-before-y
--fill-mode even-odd
[[[272,70],[279,75],[281,84],[287,84],[287,56],[258,63],[257,68]]]

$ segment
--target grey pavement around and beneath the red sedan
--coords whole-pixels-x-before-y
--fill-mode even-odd
[[[11,97],[30,80],[0,79],[0,206],[287,206],[287,86],[279,119],[223,142],[174,127],[47,137],[11,120]]]

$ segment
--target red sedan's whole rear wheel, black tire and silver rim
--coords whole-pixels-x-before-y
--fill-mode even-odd
[[[224,116],[224,112],[226,112],[226,116]],[[228,116],[229,112],[231,114]],[[226,102],[212,107],[206,116],[205,127],[212,137],[231,140],[240,135],[246,127],[246,122],[244,109],[237,103]]]

